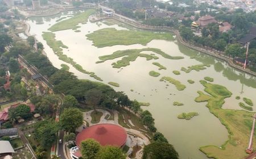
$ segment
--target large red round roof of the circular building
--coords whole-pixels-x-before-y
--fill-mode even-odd
[[[80,147],[82,141],[94,139],[102,146],[112,145],[122,147],[126,143],[127,133],[125,129],[114,124],[97,124],[83,129],[76,136],[76,145]]]

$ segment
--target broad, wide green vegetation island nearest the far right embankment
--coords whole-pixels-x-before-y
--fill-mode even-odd
[[[170,33],[154,33],[150,31],[116,30],[115,28],[103,28],[86,35],[88,40],[98,48],[111,47],[113,45],[146,45],[151,40],[174,40]]]

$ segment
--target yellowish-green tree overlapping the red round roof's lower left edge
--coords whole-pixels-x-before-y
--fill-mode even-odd
[[[96,154],[100,151],[101,145],[98,141],[87,139],[81,142],[80,148],[83,158],[94,159],[96,158]]]

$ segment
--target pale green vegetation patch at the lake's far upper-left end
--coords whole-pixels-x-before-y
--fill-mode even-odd
[[[96,12],[96,10],[94,9],[88,9],[85,10],[84,12],[80,12],[79,14],[76,14],[75,16],[73,16],[72,18],[63,20],[59,23],[54,24],[53,26],[51,26],[50,28],[48,28],[49,31],[61,31],[61,30],[76,30],[77,28],[79,28],[79,26],[77,26],[79,23],[84,23],[88,21],[88,17],[93,14],[94,12]]]

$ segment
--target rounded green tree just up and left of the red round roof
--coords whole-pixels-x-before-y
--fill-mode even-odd
[[[75,129],[83,124],[82,112],[78,108],[67,108],[60,115],[60,127],[68,132],[75,132]]]

